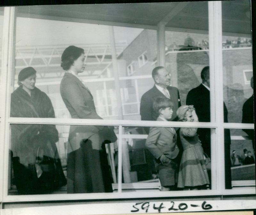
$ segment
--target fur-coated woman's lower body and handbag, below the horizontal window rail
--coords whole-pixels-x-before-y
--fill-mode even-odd
[[[47,194],[66,185],[58,139],[55,125],[11,125],[11,180],[18,194]]]

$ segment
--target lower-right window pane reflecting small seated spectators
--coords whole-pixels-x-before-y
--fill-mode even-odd
[[[232,188],[255,186],[254,142],[241,129],[230,129],[230,133],[229,159],[231,159]]]

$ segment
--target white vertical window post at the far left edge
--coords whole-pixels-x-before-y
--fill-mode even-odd
[[[4,199],[7,196],[8,188],[8,168],[10,164],[8,162],[9,155],[9,129],[8,121],[9,110],[10,110],[10,95],[11,95],[11,76],[13,71],[13,55],[15,50],[15,36],[14,30],[16,25],[16,15],[15,7],[5,7],[4,8],[4,32],[3,32],[3,49],[2,49],[2,83],[1,83],[1,101],[3,104],[2,109],[2,121],[1,121],[1,134],[3,135],[0,139],[0,151],[2,154],[1,163],[0,163],[0,181],[3,182],[0,185],[0,202],[2,198]]]

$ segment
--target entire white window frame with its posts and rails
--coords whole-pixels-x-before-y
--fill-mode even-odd
[[[124,126],[172,126],[172,127],[199,127],[212,128],[212,190],[190,190],[170,192],[148,192],[147,197],[182,197],[182,196],[220,196],[220,195],[255,195],[255,187],[244,189],[225,189],[224,168],[224,129],[254,129],[254,124],[223,123],[223,85],[222,85],[222,31],[221,31],[221,2],[208,2],[209,10],[209,57],[211,80],[211,122],[210,123],[183,123],[183,122],[156,122],[135,120],[96,120],[96,119],[60,119],[60,118],[16,118],[10,117],[10,95],[13,65],[13,49],[15,43],[15,8],[4,8],[4,38],[2,59],[1,83],[1,136],[0,139],[0,202],[30,202],[30,201],[60,201],[60,200],[85,200],[85,199],[129,199],[145,198],[145,192],[122,192],[122,140]],[[7,30],[6,30],[7,29]],[[145,53],[145,52],[144,52]],[[217,72],[218,71],[218,72]],[[218,81],[214,81],[218,80]],[[10,146],[10,124],[55,124],[55,125],[114,125],[118,126],[118,192],[117,193],[92,193],[92,194],[58,194],[58,195],[8,195],[8,152]],[[217,162],[218,161],[218,162]],[[3,173],[3,174],[2,174]],[[214,174],[215,173],[215,174]]]

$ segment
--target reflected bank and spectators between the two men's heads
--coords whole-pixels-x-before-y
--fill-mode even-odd
[[[165,32],[166,67],[172,74],[172,86],[179,89],[182,105],[188,92],[202,83],[201,71],[209,65],[208,43],[206,34]]]

